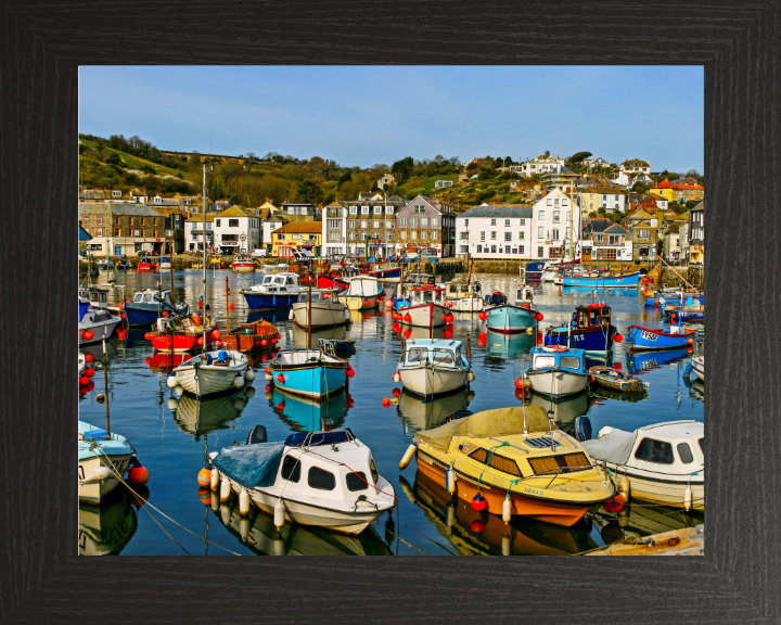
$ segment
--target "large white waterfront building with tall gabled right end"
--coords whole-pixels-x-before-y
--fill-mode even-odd
[[[537,259],[577,253],[579,211],[572,219],[569,197],[560,189],[534,206],[500,204],[475,206],[456,217],[456,254],[474,258]]]

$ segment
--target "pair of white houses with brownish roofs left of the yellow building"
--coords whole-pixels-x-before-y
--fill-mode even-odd
[[[184,222],[184,248],[195,252],[204,240],[203,215],[193,215]],[[206,245],[220,254],[248,253],[259,248],[263,220],[252,211],[231,206],[221,213],[206,214]]]

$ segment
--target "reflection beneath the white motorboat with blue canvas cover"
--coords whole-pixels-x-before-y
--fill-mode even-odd
[[[273,518],[255,506],[251,506],[249,513],[242,516],[235,494],[221,505],[219,493],[212,493],[212,510],[220,523],[258,556],[393,554],[372,525],[356,535],[329,532],[297,523],[285,523],[280,531],[277,531]]]

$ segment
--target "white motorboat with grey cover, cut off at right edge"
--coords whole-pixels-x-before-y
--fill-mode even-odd
[[[676,508],[705,509],[705,424],[667,421],[626,432],[603,428],[582,446],[616,482],[629,480],[629,497]]]

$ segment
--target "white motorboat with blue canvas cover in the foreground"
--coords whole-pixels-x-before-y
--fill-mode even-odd
[[[209,457],[219,471],[220,499],[232,490],[241,505],[248,495],[274,515],[277,527],[292,522],[359,534],[396,507],[394,488],[377,473],[371,449],[349,429],[299,432],[284,442],[226,447]]]

